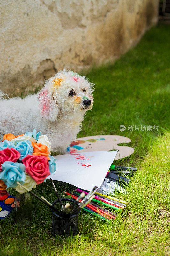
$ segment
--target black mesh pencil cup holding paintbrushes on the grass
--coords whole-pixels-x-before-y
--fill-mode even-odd
[[[70,198],[61,198],[61,202],[63,205],[66,203],[73,204],[75,202],[74,199]],[[57,210],[60,211],[61,204],[59,200],[55,200],[52,205],[55,206]],[[51,233],[53,236],[75,236],[78,230],[78,213],[74,215],[69,215],[68,218],[59,216],[56,212],[51,209],[52,212],[52,228]]]

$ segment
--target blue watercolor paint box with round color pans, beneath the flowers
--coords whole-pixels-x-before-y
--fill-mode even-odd
[[[14,196],[1,196],[0,198],[0,219],[9,216],[14,208]]]

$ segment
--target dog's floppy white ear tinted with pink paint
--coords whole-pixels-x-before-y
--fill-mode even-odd
[[[46,87],[44,87],[40,94],[39,99],[39,109],[41,111],[41,117],[50,120],[51,122],[57,119],[59,109],[56,102],[56,97],[54,97],[53,91],[49,92]]]

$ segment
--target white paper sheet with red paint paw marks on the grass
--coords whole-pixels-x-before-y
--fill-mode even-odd
[[[54,156],[57,170],[47,179],[70,183],[84,190],[100,187],[117,151],[83,152]]]

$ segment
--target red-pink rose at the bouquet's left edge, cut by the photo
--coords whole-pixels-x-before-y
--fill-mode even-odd
[[[1,169],[1,164],[4,163],[5,161],[11,161],[11,162],[17,162],[21,154],[14,148],[5,148],[0,151],[0,172],[2,171]]]

